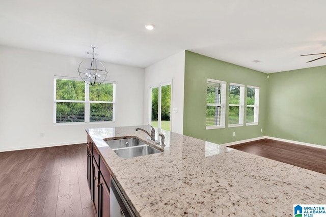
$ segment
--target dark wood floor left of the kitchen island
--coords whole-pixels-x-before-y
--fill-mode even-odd
[[[0,152],[0,216],[94,216],[86,144]]]

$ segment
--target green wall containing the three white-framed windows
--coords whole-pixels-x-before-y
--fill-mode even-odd
[[[258,86],[260,88],[259,124],[246,126],[245,108],[243,127],[228,128],[228,115],[226,115],[226,126],[224,129],[206,130],[207,78],[227,82],[226,105],[228,105],[228,88],[230,82],[244,84],[246,87],[244,96],[247,96],[247,85]],[[186,51],[184,73],[183,134],[218,144],[264,136],[267,81],[268,80],[265,73]],[[244,104],[246,105],[246,102],[244,102]],[[228,114],[228,106],[226,106],[226,114]],[[261,128],[263,129],[263,132],[260,132]],[[233,132],[235,132],[235,136],[233,136]]]

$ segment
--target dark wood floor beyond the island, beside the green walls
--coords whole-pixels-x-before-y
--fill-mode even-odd
[[[326,149],[271,139],[246,142],[229,147],[326,174]]]

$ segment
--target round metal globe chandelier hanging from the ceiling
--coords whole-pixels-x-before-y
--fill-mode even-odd
[[[105,81],[108,72],[104,65],[94,58],[94,50],[96,47],[91,48],[93,49],[93,58],[84,59],[82,63],[79,64],[77,72],[85,83],[95,86]]]

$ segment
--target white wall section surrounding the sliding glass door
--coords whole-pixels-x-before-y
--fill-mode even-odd
[[[145,68],[144,124],[149,121],[149,88],[160,83],[172,82],[172,110],[177,108],[178,112],[171,112],[171,131],[183,133],[184,61],[183,50]]]

